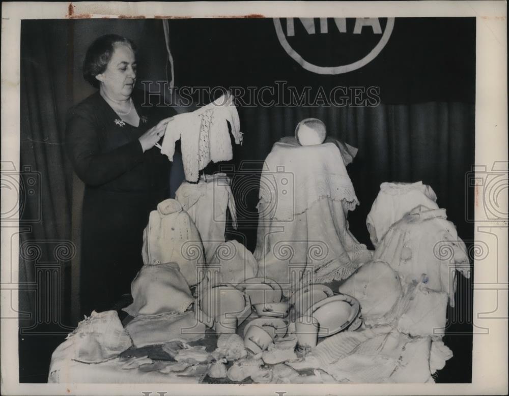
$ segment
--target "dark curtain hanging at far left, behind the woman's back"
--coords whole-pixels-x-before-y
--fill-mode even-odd
[[[20,86],[20,380],[44,382],[51,351],[72,329],[72,168],[64,117],[72,101],[72,21],[22,22]],[[30,24],[30,27],[26,26]],[[33,182],[35,180],[35,182]],[[42,369],[41,369],[42,367]]]

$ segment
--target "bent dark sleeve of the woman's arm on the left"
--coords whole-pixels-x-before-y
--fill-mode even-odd
[[[68,118],[65,144],[76,174],[90,186],[103,185],[143,160],[143,148],[138,139],[109,153],[101,153],[97,127],[81,115]]]

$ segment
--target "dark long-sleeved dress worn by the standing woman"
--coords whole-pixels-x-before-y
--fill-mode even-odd
[[[143,265],[143,230],[149,213],[168,198],[170,162],[153,147],[143,153],[138,137],[172,110],[133,104],[139,126],[125,121],[99,92],[68,112],[66,150],[85,183],[81,223],[81,315],[111,309]]]

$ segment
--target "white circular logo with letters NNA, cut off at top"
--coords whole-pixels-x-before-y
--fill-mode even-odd
[[[394,27],[394,18],[273,18],[273,22],[285,51],[317,74],[348,73],[367,65],[385,47]]]

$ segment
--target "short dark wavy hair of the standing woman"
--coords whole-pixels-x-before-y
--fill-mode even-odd
[[[136,45],[127,37],[119,35],[101,36],[87,50],[83,62],[83,78],[95,88],[99,87],[99,81],[95,77],[106,70],[115,44],[126,44],[136,53]]]

